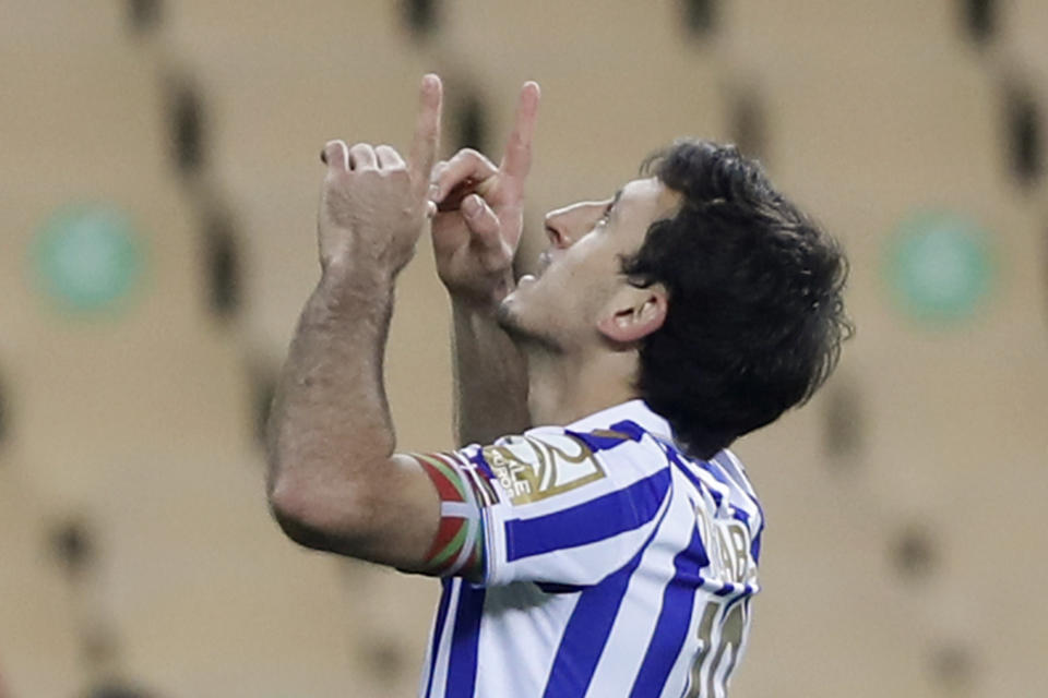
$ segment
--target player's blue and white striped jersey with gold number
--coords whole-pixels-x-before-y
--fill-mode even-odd
[[[746,648],[764,517],[727,450],[686,457],[642,400],[450,461],[485,578],[442,580],[426,698],[720,698]]]

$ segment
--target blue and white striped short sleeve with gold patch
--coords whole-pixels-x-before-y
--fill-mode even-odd
[[[666,509],[669,464],[640,428],[541,428],[457,452],[478,496],[485,582],[590,586],[630,562]]]

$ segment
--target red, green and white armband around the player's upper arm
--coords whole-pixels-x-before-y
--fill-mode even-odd
[[[440,494],[440,528],[426,557],[428,574],[484,577],[484,526],[469,476],[455,454],[412,454]]]

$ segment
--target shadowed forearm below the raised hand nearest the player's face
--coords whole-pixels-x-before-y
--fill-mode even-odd
[[[495,305],[452,298],[455,436],[489,444],[531,426],[527,366],[496,321]]]

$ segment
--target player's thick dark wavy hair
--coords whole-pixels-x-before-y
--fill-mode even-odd
[[[669,296],[641,342],[636,387],[689,453],[710,458],[829,377],[854,332],[847,260],[735,146],[680,140],[641,172],[682,202],[622,260],[634,286]]]

